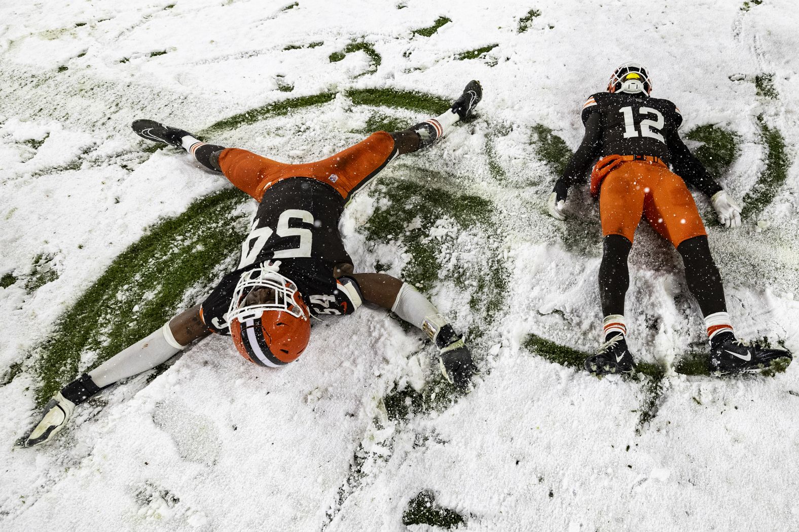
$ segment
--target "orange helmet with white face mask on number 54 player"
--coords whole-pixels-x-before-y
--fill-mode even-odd
[[[311,338],[308,305],[294,282],[277,273],[278,266],[264,263],[242,274],[227,314],[241,356],[270,368],[295,361]],[[245,302],[253,290],[264,290],[266,300]]]

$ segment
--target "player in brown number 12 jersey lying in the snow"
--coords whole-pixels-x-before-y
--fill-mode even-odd
[[[710,337],[710,370],[723,374],[757,371],[776,361],[787,365],[788,351],[745,345],[733,334],[721,276],[686,182],[710,197],[725,227],[741,225],[741,209],[683,144],[678,108],[669,100],[650,97],[650,78],[638,63],[618,67],[607,90],[582,106],[585,136],[547,204],[556,219],[566,219],[563,205],[569,187],[582,182],[599,158],[590,190],[599,196],[604,236],[599,266],[604,343],[586,360],[586,369],[602,374],[630,372],[634,367],[625,340],[624,296],[630,286],[627,255],[642,215],[682,255],[688,288],[702,309]]]

